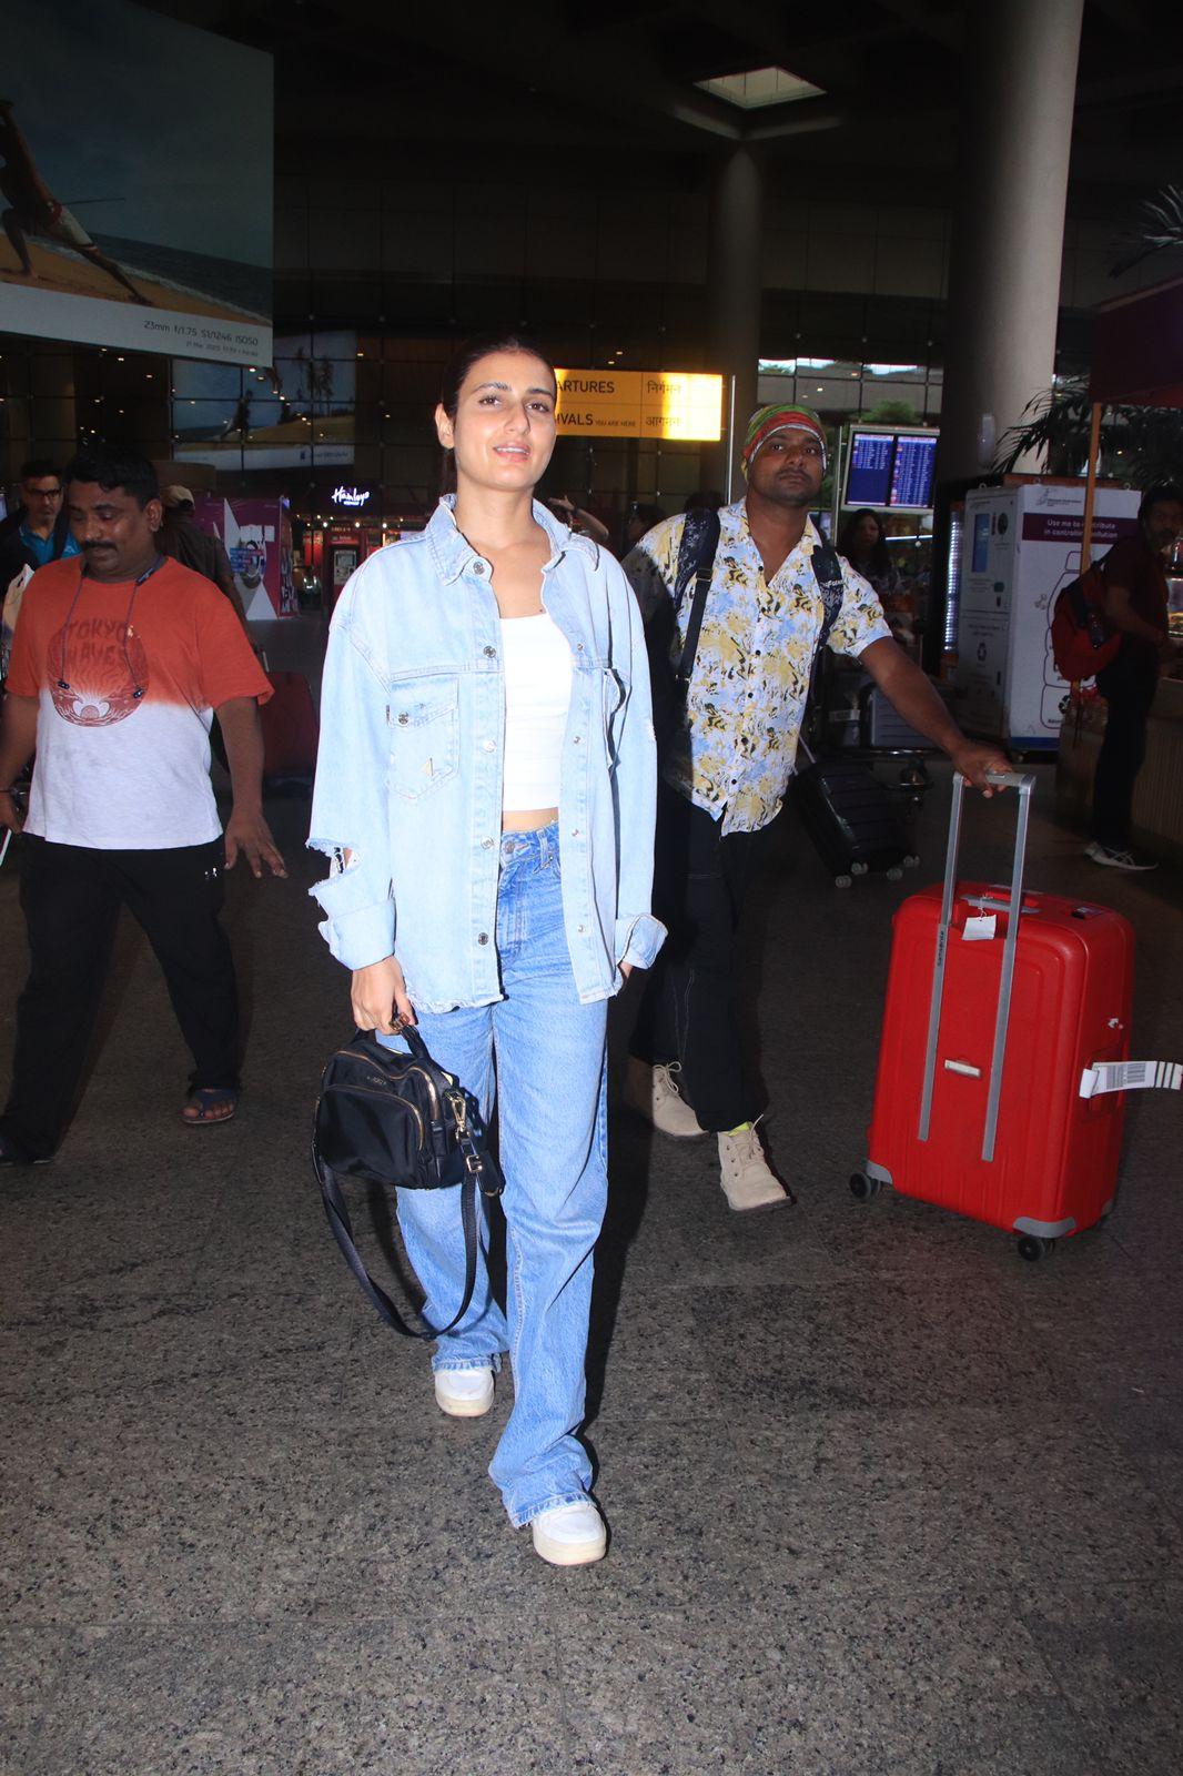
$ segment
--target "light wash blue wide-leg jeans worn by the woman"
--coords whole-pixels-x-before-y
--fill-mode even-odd
[[[508,1323],[485,1250],[467,1314],[439,1339],[435,1369],[513,1368],[513,1410],[488,1472],[515,1527],[592,1483],[576,1430],[584,1410],[592,1252],[607,1202],[607,1000],[579,1002],[563,929],[558,826],[506,833],[497,886],[504,998],[417,1012],[432,1057],[488,1115],[496,1096],[504,1170]],[[403,1048],[398,1037],[387,1046]],[[400,1190],[407,1256],[446,1325],[464,1288],[455,1190]],[[483,1238],[485,1245],[485,1238]]]

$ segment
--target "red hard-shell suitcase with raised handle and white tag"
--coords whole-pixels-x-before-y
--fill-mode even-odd
[[[1020,790],[1009,892],[956,879],[956,778],[943,890],[895,915],[869,1160],[851,1188],[892,1185],[1005,1227],[1034,1259],[1114,1202],[1124,1092],[1082,1090],[1089,1067],[1130,1053],[1133,929],[1023,892],[1036,780],[1007,781]]]

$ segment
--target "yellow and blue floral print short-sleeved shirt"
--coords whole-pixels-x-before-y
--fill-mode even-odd
[[[623,561],[645,616],[673,597],[684,517],[657,524]],[[698,636],[686,725],[663,757],[663,776],[721,831],[755,833],[774,821],[796,769],[822,597],[810,565],[821,542],[806,520],[771,584],[748,529],[744,501],[719,511],[719,547]],[[842,561],[842,609],[830,630],[835,654],[858,655],[892,630],[867,581]],[[693,584],[679,611],[680,654]]]

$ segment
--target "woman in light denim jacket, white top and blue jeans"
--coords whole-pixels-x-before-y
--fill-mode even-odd
[[[650,915],[655,744],[641,618],[618,563],[533,499],[556,377],[519,337],[472,341],[435,426],[455,496],[350,579],[325,661],[311,844],[359,1028],[494,1099],[508,1318],[481,1268],[437,1343],[435,1398],[513,1410],[490,1474],[556,1565],[604,1554],[576,1431],[592,1250],[607,1195],[607,1002],[664,936]],[[455,1192],[400,1192],[407,1252],[444,1325],[464,1282]]]

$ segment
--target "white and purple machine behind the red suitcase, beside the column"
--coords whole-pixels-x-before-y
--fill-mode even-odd
[[[1137,529],[1135,488],[1098,487],[1092,559]],[[1059,746],[1068,686],[1052,659],[1052,607],[1080,574],[1084,481],[1030,480],[966,494],[961,531],[957,712],[1018,751]]]

